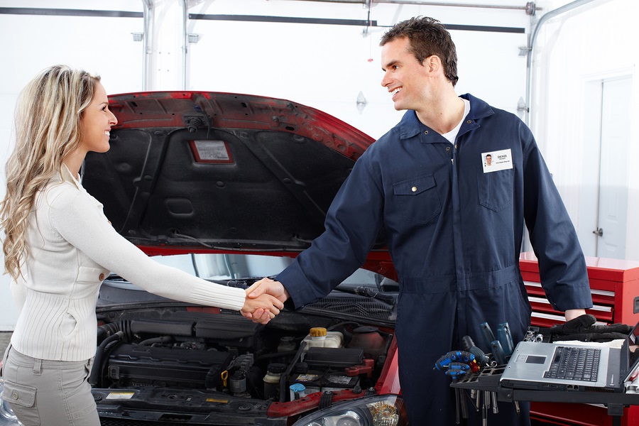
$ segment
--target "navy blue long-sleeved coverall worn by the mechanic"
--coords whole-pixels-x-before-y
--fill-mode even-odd
[[[519,269],[524,221],[542,287],[556,310],[591,307],[584,254],[530,129],[466,94],[454,143],[415,111],[356,161],[327,212],[326,230],[278,277],[299,308],[327,295],[364,263],[381,227],[400,282],[395,335],[410,425],[454,425],[450,378],[433,366],[468,334],[490,352],[479,324],[530,325]],[[512,167],[484,173],[486,153],[510,149]],[[493,158],[493,162],[495,159]],[[528,424],[500,403],[488,425]],[[473,414],[474,410],[469,410]],[[479,424],[479,422],[470,422]]]

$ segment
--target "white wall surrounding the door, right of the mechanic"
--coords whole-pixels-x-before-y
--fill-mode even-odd
[[[562,3],[565,3],[563,1]],[[531,127],[540,143],[555,183],[579,231],[586,256],[596,256],[592,234],[596,213],[599,158],[598,124],[588,121],[586,93],[601,80],[629,76],[630,117],[639,112],[639,36],[636,0],[599,0],[547,21],[535,43]],[[618,155],[628,168],[626,255],[639,259],[639,129],[630,123],[628,154]],[[626,188],[622,189],[625,192]],[[606,229],[604,229],[604,234]]]

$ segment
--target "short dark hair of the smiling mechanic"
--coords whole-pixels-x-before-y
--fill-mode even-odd
[[[415,16],[406,21],[396,23],[386,31],[379,45],[383,46],[398,38],[406,37],[410,40],[410,52],[422,63],[431,55],[437,55],[442,60],[444,75],[457,84],[457,51],[450,33],[437,19],[427,16]]]

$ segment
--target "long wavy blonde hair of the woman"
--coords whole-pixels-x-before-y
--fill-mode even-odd
[[[6,195],[0,202],[4,273],[13,279],[20,276],[28,252],[26,230],[35,195],[80,146],[80,118],[99,80],[84,70],[54,65],[36,75],[18,97],[16,147],[6,162]]]

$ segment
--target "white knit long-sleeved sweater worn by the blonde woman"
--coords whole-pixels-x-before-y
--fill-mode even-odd
[[[62,166],[35,199],[26,234],[24,280],[11,285],[16,351],[39,359],[82,361],[94,355],[98,289],[109,271],[151,293],[240,310],[245,292],[209,283],[153,261],[120,236],[102,204]]]

